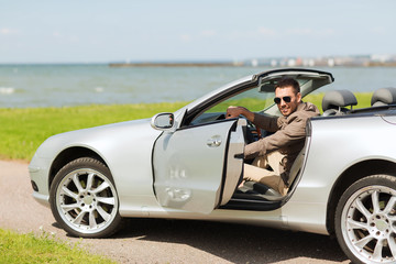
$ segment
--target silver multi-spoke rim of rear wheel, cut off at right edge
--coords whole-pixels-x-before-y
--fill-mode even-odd
[[[359,189],[346,201],[341,230],[348,248],[364,263],[396,260],[396,191],[385,186]]]

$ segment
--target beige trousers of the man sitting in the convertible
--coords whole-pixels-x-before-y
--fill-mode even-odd
[[[268,155],[256,157],[252,165],[244,164],[243,179],[264,184],[277,190],[282,196],[285,196],[288,188],[280,178],[279,172],[280,162],[284,156],[279,152],[272,152]],[[267,169],[270,167],[273,170]]]

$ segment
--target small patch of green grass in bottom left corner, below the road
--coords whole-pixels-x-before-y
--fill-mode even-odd
[[[102,256],[89,254],[78,243],[56,241],[43,232],[19,234],[0,229],[0,263],[116,263]]]

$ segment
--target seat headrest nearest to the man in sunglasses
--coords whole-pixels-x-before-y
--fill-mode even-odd
[[[324,95],[322,100],[323,111],[328,109],[356,106],[356,97],[350,90],[333,90]]]

